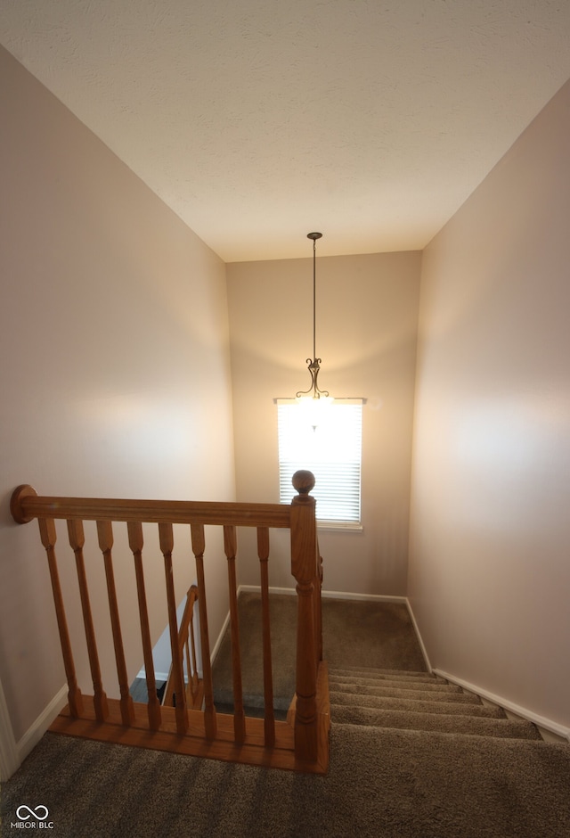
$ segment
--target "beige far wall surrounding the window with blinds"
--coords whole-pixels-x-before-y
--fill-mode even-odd
[[[307,241],[311,254],[311,243]],[[364,397],[362,533],[322,531],[324,587],[405,595],[411,420],[420,254],[322,257],[317,250],[320,384]],[[310,383],[313,263],[308,259],[227,266],[238,497],[279,500],[275,397]],[[318,500],[318,487],[314,489]],[[291,587],[287,544],[272,556],[272,584]],[[258,583],[255,549],[241,555],[241,581]]]

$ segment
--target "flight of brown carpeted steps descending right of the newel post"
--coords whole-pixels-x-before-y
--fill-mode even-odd
[[[330,667],[329,685],[335,726],[541,739],[531,722],[509,719],[500,707],[428,672]]]

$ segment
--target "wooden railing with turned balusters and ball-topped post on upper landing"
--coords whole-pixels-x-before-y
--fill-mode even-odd
[[[26,523],[37,518],[52,579],[61,650],[69,686],[69,709],[54,722],[53,729],[63,730],[71,735],[120,741],[142,747],[158,747],[162,750],[213,756],[224,760],[268,766],[279,765],[281,768],[297,768],[318,773],[326,770],[329,709],[326,665],[322,662],[322,562],[316,535],[315,501],[314,497],[309,494],[314,486],[314,476],[311,472],[296,472],[293,485],[298,494],[293,498],[290,506],[93,497],[40,497],[35,489],[28,485],[22,485],[14,490],[11,501],[12,517],[19,523]],[[68,523],[69,545],[76,557],[85,639],[94,684],[93,697],[82,694],[77,685],[75,662],[55,555],[55,520],[65,520]],[[85,536],[82,522],[84,521],[96,522],[99,548],[102,553],[117,663],[120,691],[118,701],[108,699],[102,685],[83,558]],[[149,694],[147,712],[144,714],[147,717],[146,720],[142,718],[142,705],[134,705],[128,689],[126,654],[123,648],[121,615],[115,585],[113,522],[126,522],[128,545],[134,559],[142,653]],[[167,693],[175,693],[175,707],[168,707],[166,704],[160,706],[156,694],[150,621],[142,569],[142,523],[159,525],[159,547],[165,571],[168,626],[173,661]],[[198,593],[197,595],[192,593],[192,598],[189,597],[180,627],[176,616],[172,559],[175,547],[173,529],[175,523],[190,526],[198,582]],[[232,633],[233,717],[217,714],[214,702],[204,572],[205,527],[210,525],[222,527],[224,531]],[[262,592],[265,695],[263,720],[246,717],[243,706],[237,603],[237,528],[239,527],[254,527],[257,530],[257,554]],[[290,530],[291,572],[296,579],[297,589],[296,694],[289,711],[288,722],[275,721],[273,713],[268,598],[270,529]],[[192,652],[188,651],[188,631],[194,596],[198,596],[199,599],[199,642],[202,664],[202,682],[199,685],[199,691],[195,689],[198,676],[193,635],[191,637]],[[188,678],[191,682],[188,692],[186,692],[183,678],[184,656],[187,661]],[[225,719],[232,719],[232,732]],[[118,733],[117,725],[121,727],[121,733]],[[175,735],[175,740],[170,740],[171,735]],[[166,745],[167,742],[170,744]]]

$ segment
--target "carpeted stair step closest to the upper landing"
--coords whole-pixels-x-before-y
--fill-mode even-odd
[[[333,724],[391,727],[406,730],[437,731],[462,735],[494,736],[500,739],[540,739],[537,728],[527,721],[486,719],[479,716],[452,716],[413,711],[379,710],[330,704]]]

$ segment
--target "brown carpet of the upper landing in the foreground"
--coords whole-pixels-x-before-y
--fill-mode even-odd
[[[570,748],[333,722],[327,776],[46,734],[2,789],[61,838],[568,838]]]

